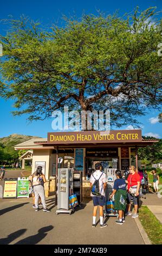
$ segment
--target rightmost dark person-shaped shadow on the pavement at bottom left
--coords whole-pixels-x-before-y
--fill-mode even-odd
[[[36,245],[38,242],[40,242],[44,237],[47,236],[47,233],[52,230],[54,227],[52,225],[49,225],[47,227],[40,228],[38,230],[38,233],[36,235],[28,236],[17,243],[14,243],[14,245]]]

